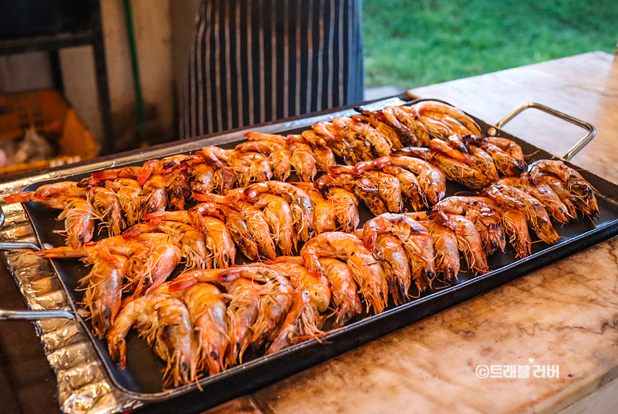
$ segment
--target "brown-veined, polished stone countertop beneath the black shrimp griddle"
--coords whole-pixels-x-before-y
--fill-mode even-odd
[[[447,100],[490,123],[529,100],[587,120],[597,127],[597,138],[573,162],[618,183],[618,62],[609,54],[582,54],[410,94]],[[505,129],[557,155],[584,134],[532,109]],[[6,277],[0,274],[0,281]],[[612,239],[209,413],[558,413],[573,403],[564,414],[584,412],[586,404],[597,404],[590,412],[613,413],[617,286],[618,239]],[[8,307],[1,294],[0,307]],[[36,413],[43,411],[36,411],[37,404],[49,402],[54,377],[42,351],[14,350],[15,341],[30,347],[38,342],[32,325],[23,324],[19,330],[29,328],[28,338],[0,325],[0,365],[10,374],[0,375],[0,401],[15,391],[12,411]],[[475,374],[479,364],[528,364],[529,358],[558,364],[560,378]],[[36,375],[20,373],[22,366]],[[24,392],[29,386],[34,388]],[[610,411],[582,400],[593,391],[592,400],[608,395]]]

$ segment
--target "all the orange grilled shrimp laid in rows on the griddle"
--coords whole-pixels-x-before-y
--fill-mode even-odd
[[[552,220],[599,211],[577,171],[527,166],[515,142],[483,138],[459,109],[423,101],[357,112],[4,201],[62,210],[67,246],[33,254],[91,265],[80,283],[93,334],[124,367],[135,327],[167,362],[166,387],[242,363],[247,349],[319,339],[328,318],[342,327],[448,286],[460,252],[475,274],[506,241],[527,257],[529,229],[555,243]],[[478,193],[445,197],[447,179]],[[360,202],[375,216],[361,228]],[[92,241],[98,221],[108,237]],[[237,251],[251,263],[237,264]]]

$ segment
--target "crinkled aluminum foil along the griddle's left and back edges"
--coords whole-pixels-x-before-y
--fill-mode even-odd
[[[375,111],[388,105],[401,105],[405,102],[399,98],[381,100],[368,105],[365,109]],[[347,109],[336,113],[327,113],[311,118],[291,120],[263,127],[252,131],[276,133],[289,129],[309,127],[320,120],[331,120],[338,116],[355,113]],[[0,194],[5,195],[30,184],[47,179],[61,179],[68,175],[96,171],[101,168],[115,168],[152,158],[200,149],[206,145],[225,144],[242,138],[244,131],[237,131],[214,138],[183,141],[174,146],[146,150],[142,153],[119,157],[113,162],[92,162],[73,166],[45,174],[32,175],[23,179],[0,184]],[[0,229],[0,241],[29,241],[38,244],[30,221],[21,204],[0,202],[5,214],[5,222]],[[74,311],[67,292],[65,292],[58,275],[47,259],[25,254],[25,250],[1,252],[8,263],[9,271],[14,277],[25,301],[34,310],[65,309]],[[1,323],[1,322],[0,322]],[[45,349],[49,365],[56,373],[58,382],[58,403],[67,414],[113,414],[140,408],[146,402],[118,389],[100,361],[94,345],[80,323],[74,320],[41,320],[34,323],[36,332]]]

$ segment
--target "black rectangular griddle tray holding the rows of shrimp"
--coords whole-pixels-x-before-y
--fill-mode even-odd
[[[374,102],[368,106],[368,109],[381,109],[386,105],[393,105],[393,100]],[[318,120],[350,115],[351,113],[353,113],[351,109],[337,109],[322,113],[319,117],[310,116],[289,122],[273,123],[262,127],[250,127],[233,131],[232,133],[214,138],[212,142],[199,140],[159,146],[154,151],[142,151],[122,157],[117,160],[113,168],[126,165],[141,165],[145,160],[153,157],[160,158],[175,153],[192,153],[209,144],[217,144],[223,148],[232,148],[236,144],[245,141],[243,133],[246,131],[263,131],[280,133],[281,135],[300,133]],[[474,120],[478,122],[485,135],[488,130],[492,129],[490,131],[492,135],[517,142],[525,154],[532,154],[528,160],[529,163],[542,159],[556,159],[556,157],[546,151],[538,149],[536,146],[522,141],[505,131],[496,129],[496,127],[482,120],[477,118],[474,118]],[[566,164],[572,168],[577,168],[568,162]],[[67,169],[65,173],[60,171],[54,179],[31,184],[25,190],[34,190],[38,186],[52,182],[65,180],[79,181],[89,176],[92,171],[102,168],[111,168],[111,166],[101,162],[83,164],[78,168]],[[320,342],[317,340],[307,340],[269,356],[250,355],[247,352],[247,358],[243,364],[232,367],[217,375],[202,378],[199,381],[199,386],[203,391],[198,389],[197,384],[188,384],[177,389],[162,391],[162,369],[164,369],[165,364],[155,356],[155,353],[153,353],[144,340],[137,337],[134,330],[127,337],[126,369],[118,369],[109,357],[107,342],[94,338],[90,333],[91,329],[87,320],[82,319],[80,316],[77,318],[89,333],[90,340],[96,348],[104,367],[109,371],[113,384],[122,392],[146,404],[140,412],[142,410],[153,413],[166,412],[180,407],[183,407],[186,411],[189,406],[191,407],[190,411],[202,411],[234,397],[261,389],[268,384],[287,378],[294,373],[313,367],[341,353],[360,347],[371,340],[390,334],[423,318],[441,312],[443,309],[488,292],[533,270],[554,263],[564,257],[569,257],[575,252],[580,252],[618,235],[618,186],[592,173],[581,171],[580,168],[577,168],[577,170],[596,189],[595,195],[599,204],[599,215],[594,219],[580,217],[577,221],[564,225],[554,223],[561,237],[558,243],[551,246],[542,242],[533,243],[532,254],[525,259],[517,259],[513,248],[507,243],[505,253],[498,252],[488,257],[488,265],[491,271],[487,274],[475,276],[471,272],[462,271],[459,274],[459,281],[452,283],[450,286],[436,281],[434,282],[433,289],[423,292],[418,298],[412,299],[410,303],[395,307],[391,302],[388,309],[382,314],[373,316],[362,314],[356,316],[349,325],[329,332],[321,338]],[[472,194],[470,189],[451,181],[447,184],[447,190],[447,196],[461,193]],[[373,217],[363,205],[359,206],[359,210],[361,225]],[[32,221],[32,226],[39,243],[51,243],[53,246],[64,245],[63,237],[54,233],[54,230],[63,229],[63,223],[56,221],[59,210],[53,210],[41,204],[30,202],[25,204],[25,211],[30,221]],[[99,236],[99,238],[101,237],[102,235]],[[534,235],[532,237],[533,240],[536,240]],[[237,259],[241,259],[241,257]],[[236,261],[236,263],[239,262],[239,260]],[[73,312],[77,314],[77,310],[80,307],[79,303],[82,301],[83,296],[82,292],[76,290],[78,280],[89,272],[89,268],[85,268],[82,263],[75,259],[54,259],[52,264],[67,294],[71,298]],[[462,265],[464,266],[465,263],[462,263]],[[177,272],[179,272],[179,269],[177,269]],[[414,291],[412,293],[416,292],[414,286],[412,291]]]

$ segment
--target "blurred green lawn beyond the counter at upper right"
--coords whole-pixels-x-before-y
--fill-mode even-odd
[[[363,0],[366,87],[430,85],[593,50],[618,0]]]

